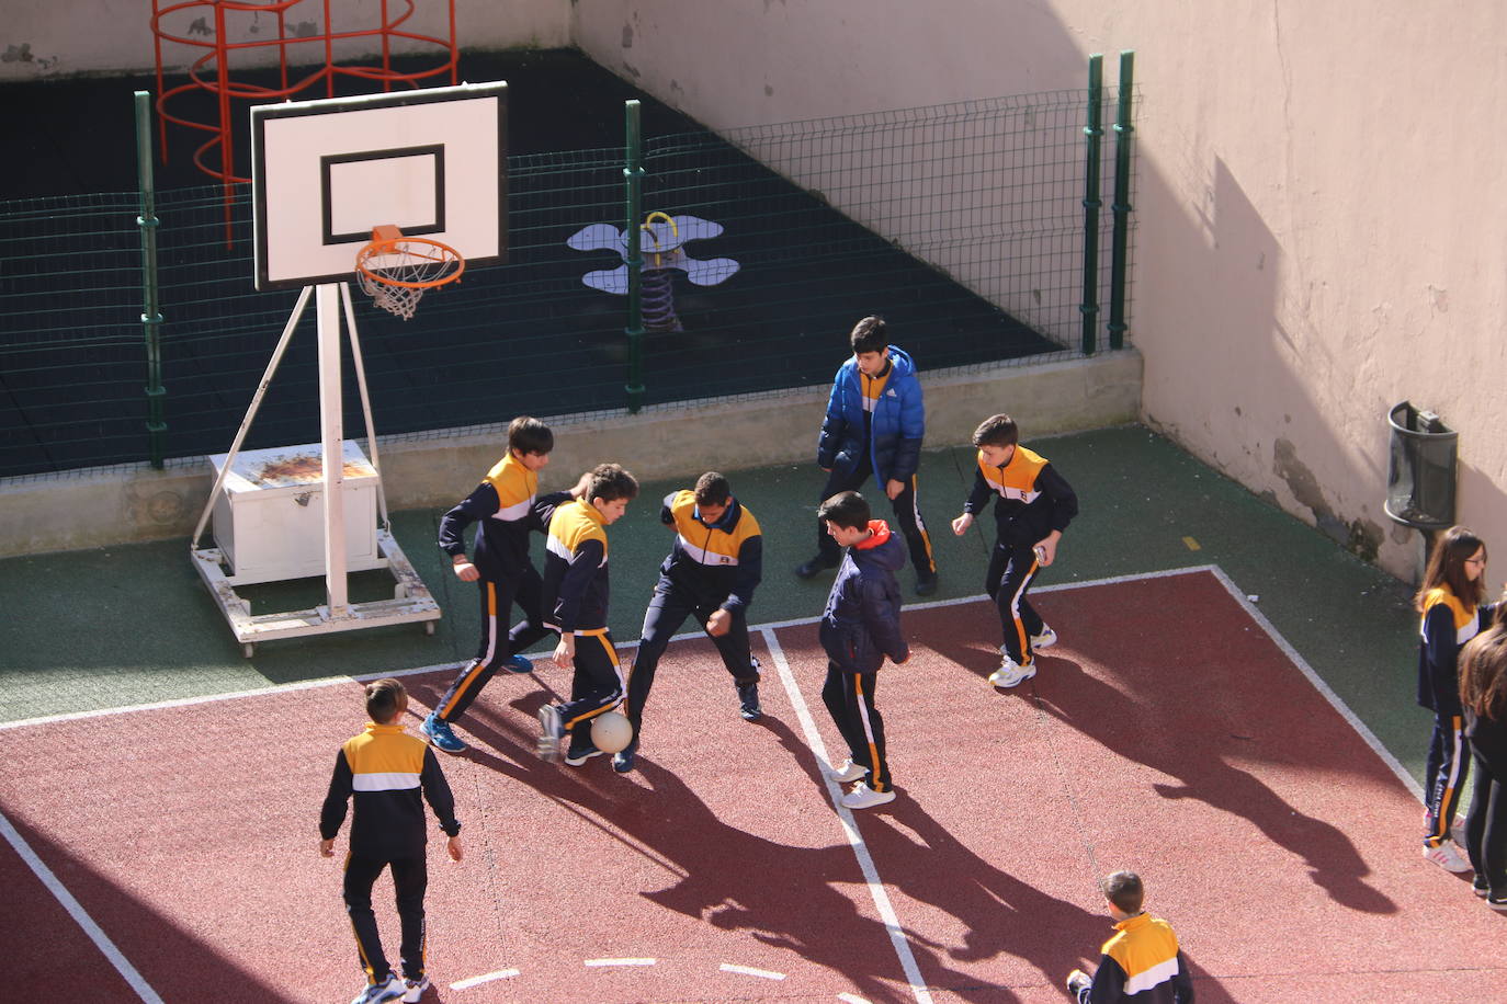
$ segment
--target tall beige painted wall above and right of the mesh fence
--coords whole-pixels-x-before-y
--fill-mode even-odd
[[[1136,50],[1144,417],[1411,575],[1385,412],[1460,432],[1507,546],[1507,6],[1450,0],[592,0],[592,59],[714,128],[1082,87]],[[1492,573],[1492,581],[1499,577]]]

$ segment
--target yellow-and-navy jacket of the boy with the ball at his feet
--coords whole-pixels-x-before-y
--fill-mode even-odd
[[[607,528],[601,513],[585,498],[556,507],[544,546],[544,626],[561,634],[606,629]]]

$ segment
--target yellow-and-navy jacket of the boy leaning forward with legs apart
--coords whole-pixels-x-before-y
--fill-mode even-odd
[[[705,522],[696,492],[665,497],[660,521],[675,528],[675,543],[660,575],[698,604],[747,611],[764,573],[764,536],[758,519],[732,498],[716,522]]]

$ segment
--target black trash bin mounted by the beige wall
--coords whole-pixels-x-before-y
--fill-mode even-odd
[[[1392,427],[1386,515],[1415,530],[1453,527],[1459,434],[1406,400],[1388,412],[1386,423]]]

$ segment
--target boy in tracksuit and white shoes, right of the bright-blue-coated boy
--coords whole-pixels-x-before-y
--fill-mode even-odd
[[[1035,676],[1035,649],[1056,643],[1056,632],[1043,623],[1026,602],[1037,572],[1056,560],[1056,545],[1078,515],[1078,495],[1050,461],[1020,443],[1010,415],[990,415],[974,431],[978,470],[963,515],[952,533],[963,536],[974,516],[995,498],[998,536],[989,555],[984,592],[999,607],[1005,643],[999,646],[999,668],[989,677],[995,686],[1014,686]]]

